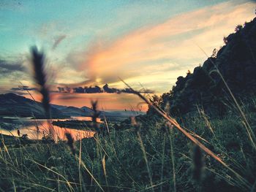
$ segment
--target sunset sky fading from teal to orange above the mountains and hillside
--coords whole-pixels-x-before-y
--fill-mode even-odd
[[[0,93],[33,91],[31,46],[45,52],[52,102],[106,110],[138,108],[129,93],[55,93],[105,85],[161,94],[203,64],[223,37],[255,17],[255,1],[0,1]],[[26,94],[26,91],[20,93]],[[28,95],[25,95],[28,96]],[[140,106],[139,108],[141,108]],[[146,110],[146,106],[143,106]]]

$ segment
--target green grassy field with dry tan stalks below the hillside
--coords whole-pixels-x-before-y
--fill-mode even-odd
[[[255,107],[241,109],[252,130]],[[240,112],[211,118],[200,111],[178,123],[226,166],[154,116],[78,142],[13,147],[1,137],[0,191],[256,190],[254,133]]]

